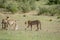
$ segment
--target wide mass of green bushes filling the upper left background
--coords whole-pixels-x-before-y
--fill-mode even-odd
[[[29,12],[35,10],[36,0],[0,0],[0,8],[6,8],[11,12]]]

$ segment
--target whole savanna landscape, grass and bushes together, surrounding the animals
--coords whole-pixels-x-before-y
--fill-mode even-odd
[[[18,30],[2,30],[1,20],[9,16]],[[41,30],[25,30],[25,21],[41,21]],[[0,0],[0,40],[60,40],[60,0]]]

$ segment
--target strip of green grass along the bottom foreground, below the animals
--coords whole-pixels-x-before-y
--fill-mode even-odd
[[[60,40],[59,33],[36,31],[0,31],[0,40]]]

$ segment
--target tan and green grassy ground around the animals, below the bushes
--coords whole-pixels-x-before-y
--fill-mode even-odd
[[[14,30],[0,30],[0,40],[60,40],[60,19],[57,16],[35,16],[26,14],[0,14],[0,29],[1,20],[6,16],[10,16],[11,19],[17,20],[19,29]],[[26,15],[24,17],[23,15]],[[42,30],[35,31],[36,27],[25,30],[24,24],[27,20],[40,20]],[[51,20],[52,21],[49,21]]]

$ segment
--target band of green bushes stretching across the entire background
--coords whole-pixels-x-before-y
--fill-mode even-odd
[[[45,5],[46,3],[48,3],[49,7]],[[60,0],[0,0],[0,8],[8,9],[11,12],[21,11],[24,13],[38,8],[38,15],[60,15],[59,5]]]

